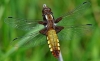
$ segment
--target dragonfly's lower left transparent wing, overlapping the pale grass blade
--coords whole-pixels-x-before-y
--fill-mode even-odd
[[[35,36],[35,37],[34,37]],[[42,44],[45,44],[46,43],[46,37],[42,34],[30,34],[30,35],[27,35],[27,36],[23,36],[23,37],[18,37],[18,38],[15,38],[11,41],[11,46],[14,46],[14,47],[18,47],[18,42],[21,41],[22,38],[30,38],[29,40],[25,41],[24,44],[20,47],[22,48],[29,48],[29,47],[35,47],[35,46],[39,46],[39,45],[42,45]]]

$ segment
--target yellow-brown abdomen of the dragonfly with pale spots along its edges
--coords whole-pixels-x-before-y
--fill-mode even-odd
[[[58,58],[60,53],[60,45],[59,45],[59,40],[56,31],[54,29],[50,29],[47,32],[47,40],[48,40],[50,51],[52,52],[54,57]]]

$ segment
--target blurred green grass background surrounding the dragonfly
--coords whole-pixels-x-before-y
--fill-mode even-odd
[[[12,51],[10,42],[26,32],[9,27],[4,23],[8,16],[23,19],[42,19],[42,5],[52,8],[55,18],[77,7],[85,0],[0,0],[0,61],[57,61],[49,51],[48,45]],[[86,16],[80,18],[92,23],[91,34],[78,36],[71,41],[61,42],[64,61],[100,61],[100,0],[89,0],[90,8]],[[85,21],[82,22],[85,22]],[[63,36],[63,35],[62,35]],[[78,41],[77,41],[78,40]]]

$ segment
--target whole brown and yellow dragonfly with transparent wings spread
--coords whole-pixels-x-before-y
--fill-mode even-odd
[[[46,36],[50,51],[52,53],[52,55],[56,58],[59,57],[59,54],[61,52],[60,50],[60,44],[59,44],[59,36],[63,36],[64,32],[62,32],[63,30],[67,30],[67,29],[88,29],[89,27],[92,26],[92,24],[84,24],[84,25],[79,25],[79,26],[67,26],[67,21],[70,20],[75,20],[78,18],[78,16],[80,16],[79,14],[81,14],[83,11],[85,11],[88,7],[90,6],[89,2],[83,2],[81,5],[79,5],[77,8],[73,9],[72,11],[70,11],[69,13],[66,13],[58,18],[54,18],[53,16],[53,12],[51,10],[51,8],[47,7],[46,4],[43,4],[43,9],[42,9],[42,16],[43,16],[43,21],[28,21],[28,20],[24,20],[24,19],[18,19],[18,18],[14,18],[14,17],[8,17],[5,19],[5,22],[9,25],[11,25],[14,28],[19,28],[22,30],[31,30],[34,29],[34,27],[36,26],[36,24],[41,24],[44,25],[44,28],[41,29],[39,31],[40,41],[35,41],[34,39],[29,40],[32,41],[31,43],[36,44],[36,42],[38,42],[36,45],[39,45],[39,43],[44,43],[44,39],[42,39],[43,35]],[[66,20],[63,20],[64,18],[66,18]],[[65,24],[66,23],[66,24]],[[57,25],[62,25],[62,26],[57,26]],[[41,36],[41,34],[43,34]],[[34,35],[34,34],[32,34]],[[26,36],[29,37],[30,35]],[[59,38],[58,38],[59,37]],[[63,36],[64,37],[64,36]],[[65,37],[66,38],[66,37]],[[15,38],[13,40],[16,41]],[[37,40],[38,40],[37,39]],[[64,39],[64,38],[62,38]]]

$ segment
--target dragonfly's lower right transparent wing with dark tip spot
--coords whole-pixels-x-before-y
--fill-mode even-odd
[[[90,34],[94,27],[92,24],[85,25],[70,25],[64,27],[64,29],[58,33],[58,37],[61,41],[72,40],[73,35],[82,37],[83,35]]]

